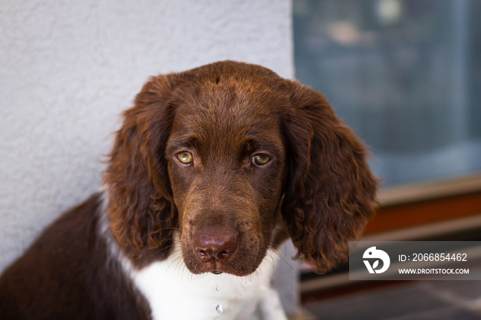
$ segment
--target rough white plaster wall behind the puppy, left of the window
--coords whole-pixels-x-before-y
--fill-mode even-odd
[[[233,59],[293,77],[290,0],[3,0],[0,30],[0,271],[98,190],[148,76]]]

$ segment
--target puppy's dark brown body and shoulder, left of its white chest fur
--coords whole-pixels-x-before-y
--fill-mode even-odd
[[[98,231],[102,202],[102,194],[94,194],[62,214],[5,270],[0,319],[137,319],[147,313],[125,290],[117,262],[107,260],[108,244]]]

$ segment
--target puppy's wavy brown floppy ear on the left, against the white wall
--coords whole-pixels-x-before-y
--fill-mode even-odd
[[[124,112],[104,185],[115,238],[130,251],[157,248],[168,254],[177,212],[167,174],[164,146],[172,123],[169,99],[174,75],[150,78]]]

